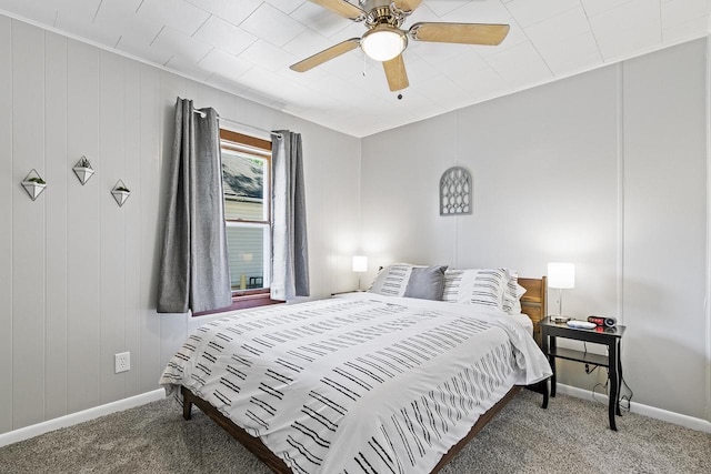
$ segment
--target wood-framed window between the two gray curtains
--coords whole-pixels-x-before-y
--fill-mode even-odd
[[[210,314],[281,303],[269,297],[271,142],[220,130],[232,305]]]

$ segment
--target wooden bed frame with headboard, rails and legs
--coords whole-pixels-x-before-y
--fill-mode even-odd
[[[541,331],[539,322],[545,317],[545,293],[547,284],[545,276],[541,279],[519,279],[519,284],[525,289],[525,294],[521,297],[521,311],[528,315],[533,322],[533,335],[535,341],[540,345]],[[543,394],[542,407],[548,407],[548,381],[543,381],[535,386],[531,386],[531,390]],[[484,414],[479,416],[477,423],[471,427],[469,434],[461,438],[459,443],[452,446],[440,460],[440,462],[432,470],[432,474],[439,472],[452,457],[459,452],[479,433],[488,423],[493,418],[497,413],[503,409],[511,399],[521,390],[520,385],[514,385],[503,397],[497,402]],[[248,434],[244,430],[236,425],[230,418],[224,416],[219,410],[212,406],[209,402],[200,399],[192,393],[189,389],[181,386],[181,394],[183,396],[182,403],[182,416],[186,420],[190,420],[192,405],[196,405],[206,415],[212,418],[218,425],[220,425],[226,432],[234,437],[242,446],[254,454],[262,463],[264,463],[272,472],[277,474],[292,474],[292,471],[287,464],[277,455],[274,455],[269,448],[261,442],[260,438]]]

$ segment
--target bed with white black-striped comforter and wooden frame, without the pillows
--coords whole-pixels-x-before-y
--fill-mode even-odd
[[[344,294],[211,321],[160,383],[276,473],[435,473],[521,386],[548,402],[531,333],[545,279],[525,289],[524,327],[497,309]]]

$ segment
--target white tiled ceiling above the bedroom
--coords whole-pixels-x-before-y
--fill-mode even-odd
[[[365,31],[307,0],[0,0],[0,11],[365,137],[704,37],[710,3],[424,0],[404,29],[449,21],[509,23],[511,31],[498,47],[411,41],[402,100],[360,49],[306,73],[289,69]]]

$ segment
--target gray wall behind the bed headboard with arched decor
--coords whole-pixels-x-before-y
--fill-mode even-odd
[[[371,268],[504,265],[538,278],[548,262],[574,262],[563,312],[628,326],[633,401],[711,420],[708,93],[699,40],[363,139]],[[441,218],[439,179],[455,164],[472,173],[473,214]],[[560,364],[561,383],[604,381]]]

